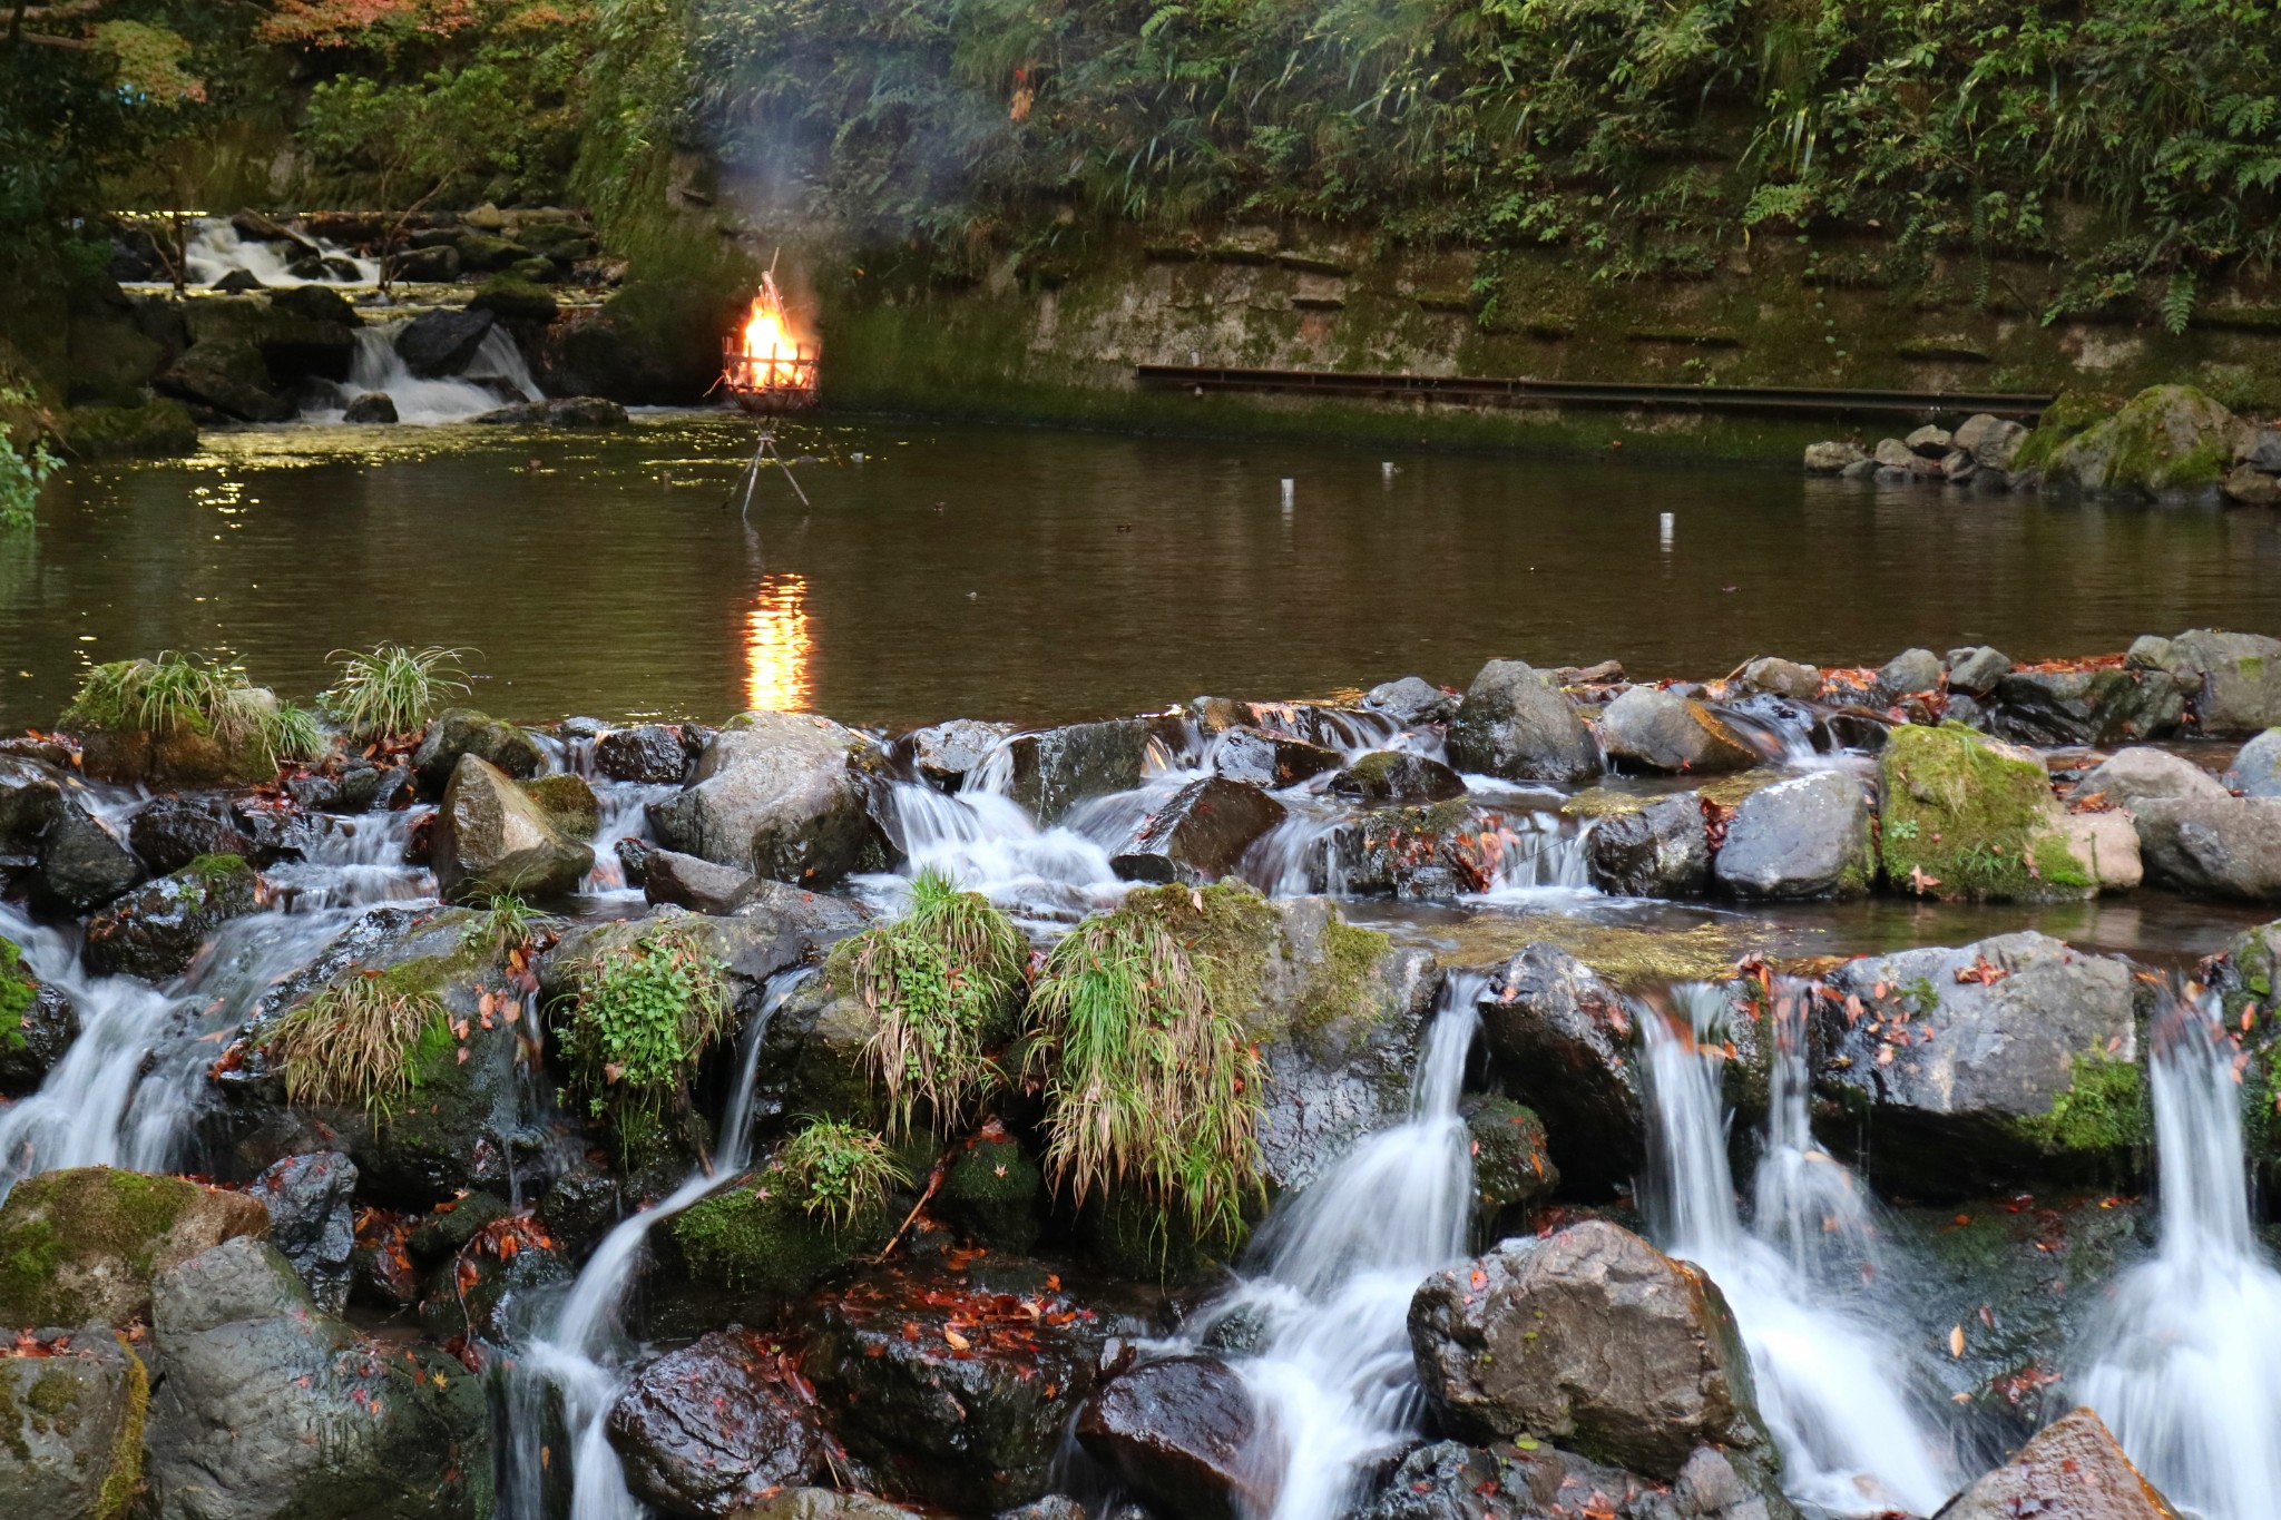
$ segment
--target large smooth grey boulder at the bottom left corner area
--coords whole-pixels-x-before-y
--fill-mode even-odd
[[[474,1520],[488,1513],[481,1383],[427,1347],[322,1313],[269,1244],[162,1272],[148,1479],[162,1520]]]

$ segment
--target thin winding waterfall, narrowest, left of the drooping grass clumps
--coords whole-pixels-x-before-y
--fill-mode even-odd
[[[570,1520],[639,1520],[643,1506],[625,1488],[625,1465],[609,1445],[609,1408],[625,1388],[625,1356],[632,1347],[620,1326],[625,1294],[634,1285],[650,1231],[734,1178],[753,1158],[753,1080],[769,1019],[810,969],[773,978],[760,1012],[746,1021],[737,1053],[737,1089],[721,1117],[721,1135],[709,1164],[696,1167],[680,1187],[652,1208],[620,1219],[602,1237],[577,1283],[554,1313],[552,1326],[520,1345],[504,1374],[509,1440],[500,1454],[500,1513],[504,1520],[545,1520],[547,1468],[543,1445],[550,1413],[559,1404],[570,1440]]]

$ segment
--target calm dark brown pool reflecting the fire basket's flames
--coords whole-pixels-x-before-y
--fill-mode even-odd
[[[474,700],[525,720],[901,725],[1464,684],[1492,656],[1720,675],[2281,631],[2281,517],[2256,510],[1458,453],[1387,481],[1334,447],[860,419],[792,440],[833,456],[801,469],[812,506],[764,479],[741,524],[719,504],[748,449],[741,419],[666,415],[609,440],[235,433],[71,472],[0,545],[0,722],[164,647],[306,697],[326,652],[383,638],[481,649]]]

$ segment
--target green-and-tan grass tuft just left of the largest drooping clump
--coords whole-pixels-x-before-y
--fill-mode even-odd
[[[1026,964],[1022,930],[933,871],[910,884],[910,912],[842,941],[835,978],[878,1016],[864,1062],[899,1135],[922,1105],[951,1135],[1006,1082],[990,1046],[1013,1035]]]

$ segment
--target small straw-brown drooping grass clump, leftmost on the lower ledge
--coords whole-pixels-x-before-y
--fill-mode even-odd
[[[415,1087],[422,1046],[449,1039],[443,1000],[349,971],[278,1019],[269,1053],[294,1103],[363,1108],[385,1119]]]

